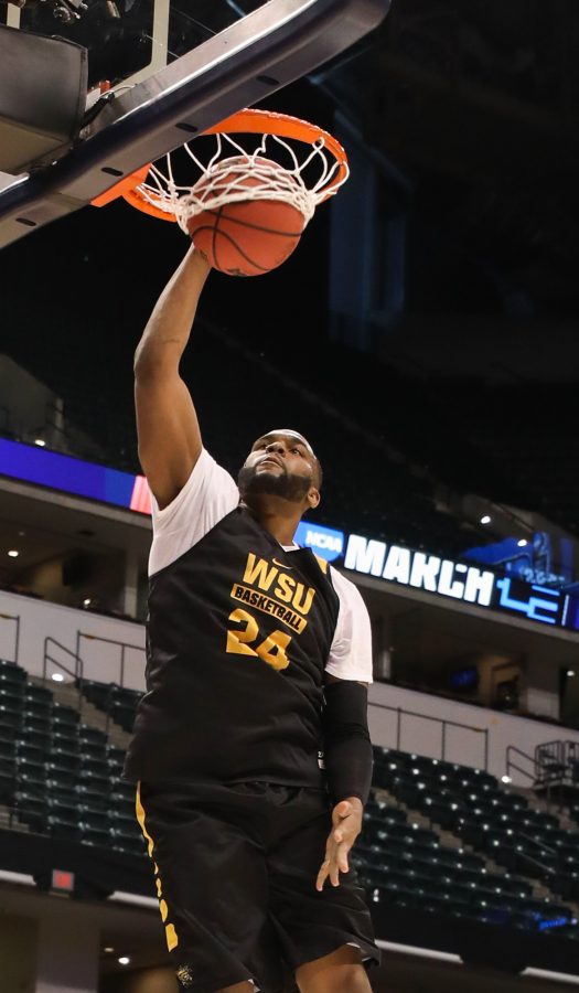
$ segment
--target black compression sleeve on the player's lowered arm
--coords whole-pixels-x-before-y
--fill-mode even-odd
[[[340,680],[324,686],[324,764],[330,793],[334,803],[357,797],[366,804],[373,772],[367,687]]]

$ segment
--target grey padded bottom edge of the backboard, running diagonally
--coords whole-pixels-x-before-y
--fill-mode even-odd
[[[390,0],[269,0],[110,104],[51,167],[0,190],[0,247],[81,210],[119,179],[353,45]]]

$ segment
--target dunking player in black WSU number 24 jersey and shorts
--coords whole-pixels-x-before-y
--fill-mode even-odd
[[[267,431],[237,485],[203,447],[179,365],[208,271],[192,246],[136,353],[153,541],[126,775],[181,987],[277,993],[293,974],[301,993],[368,993],[379,951],[349,867],[372,780],[368,616],[293,544],[320,501],[305,438]]]

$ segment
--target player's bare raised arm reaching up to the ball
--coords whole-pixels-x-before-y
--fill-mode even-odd
[[[179,364],[208,271],[192,246],[159,297],[135,353],[139,460],[161,509],[183,488],[201,453],[197,416]]]

